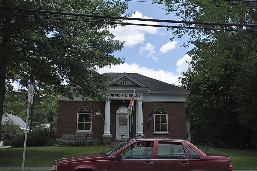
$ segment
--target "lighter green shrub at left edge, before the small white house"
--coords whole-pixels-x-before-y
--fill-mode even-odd
[[[4,121],[2,124],[2,141],[5,145],[11,145],[11,141],[18,135],[23,135],[24,130],[11,121]]]

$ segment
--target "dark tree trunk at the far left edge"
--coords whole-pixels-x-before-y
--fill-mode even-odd
[[[3,106],[4,106],[4,100],[5,100],[5,92],[6,92],[5,80],[6,80],[7,64],[9,59],[9,50],[10,50],[9,45],[10,45],[10,39],[11,39],[10,27],[11,27],[10,17],[7,16],[4,20],[3,39],[0,44],[0,52],[1,52],[1,57],[0,57],[0,114],[1,114],[0,140],[2,139],[1,127],[2,127],[2,115],[3,115]]]

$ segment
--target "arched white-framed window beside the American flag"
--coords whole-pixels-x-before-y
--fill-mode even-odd
[[[91,132],[91,122],[89,121],[90,114],[92,114],[92,110],[87,106],[78,109],[77,131]]]

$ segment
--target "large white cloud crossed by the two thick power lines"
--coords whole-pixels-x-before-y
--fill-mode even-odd
[[[143,16],[143,14],[138,11],[136,11],[131,17],[152,19],[152,17]],[[158,22],[149,22],[149,21],[125,20],[123,22],[159,25]],[[130,47],[138,43],[143,43],[145,40],[145,34],[147,33],[156,34],[157,29],[158,29],[157,27],[127,25],[127,26],[117,26],[115,28],[110,28],[110,32],[116,36],[115,39],[124,41],[125,42],[124,46]]]

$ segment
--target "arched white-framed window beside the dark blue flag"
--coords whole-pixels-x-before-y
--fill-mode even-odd
[[[154,111],[154,132],[168,132],[168,113],[164,108]]]

